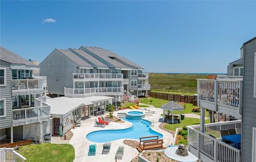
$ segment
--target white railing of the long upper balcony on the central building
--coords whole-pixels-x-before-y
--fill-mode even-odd
[[[123,74],[73,73],[74,80],[123,80]]]

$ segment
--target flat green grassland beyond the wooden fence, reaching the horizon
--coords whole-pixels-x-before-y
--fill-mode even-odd
[[[148,80],[151,91],[171,91],[194,95],[197,93],[196,79],[205,78],[207,75],[149,73]]]

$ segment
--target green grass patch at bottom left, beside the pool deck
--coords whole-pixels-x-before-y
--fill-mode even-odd
[[[21,146],[19,153],[31,161],[74,161],[75,149],[71,144],[30,144]]]

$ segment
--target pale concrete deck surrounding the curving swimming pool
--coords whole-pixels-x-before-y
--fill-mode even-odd
[[[155,111],[156,114],[153,114],[153,116],[146,116],[144,119],[149,120],[150,122],[154,122],[154,127],[151,127],[154,131],[159,132],[163,134],[163,140],[164,140],[164,147],[168,147],[168,145],[171,144],[173,141],[173,135],[169,132],[164,131],[163,129],[159,128],[159,125],[161,122],[159,122],[159,119],[161,118],[161,114],[163,113],[163,110],[159,108],[148,108],[151,111]],[[114,115],[117,116],[117,112],[128,112],[128,111],[134,111],[134,110],[119,110],[115,111]],[[139,110],[140,111],[140,110]],[[146,110],[144,110],[146,111]],[[107,114],[105,114],[107,115]],[[91,142],[86,139],[86,135],[92,131],[99,131],[99,130],[106,130],[106,129],[123,129],[123,128],[129,128],[132,126],[130,122],[125,123],[115,123],[110,122],[109,125],[107,125],[105,128],[100,127],[94,127],[94,119],[98,117],[90,117],[85,120],[82,120],[81,127],[76,127],[75,129],[71,129],[71,131],[74,133],[73,137],[69,141],[69,144],[73,145],[75,148],[75,160],[74,161],[115,161],[115,154],[119,147],[119,145],[124,145],[124,156],[122,160],[118,161],[131,161],[134,157],[136,157],[139,154],[139,151],[137,149],[134,149],[130,147],[129,145],[126,145],[123,143],[125,139],[112,141],[111,143],[111,149],[110,152],[107,155],[102,155],[102,144],[103,143],[95,143]],[[133,139],[132,139],[133,140]],[[59,140],[57,138],[53,138],[52,143],[61,143],[62,140]],[[63,143],[67,143],[67,141],[63,141]],[[88,156],[88,149],[90,144],[97,144],[97,151],[96,156]]]

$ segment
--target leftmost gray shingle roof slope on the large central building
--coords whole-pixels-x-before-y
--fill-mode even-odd
[[[69,50],[60,50],[57,49],[59,52],[61,52],[63,55],[67,56],[70,60],[74,61],[78,66],[81,67],[92,67],[91,64],[88,62],[84,61],[83,59],[79,58],[75,53],[69,51]]]

